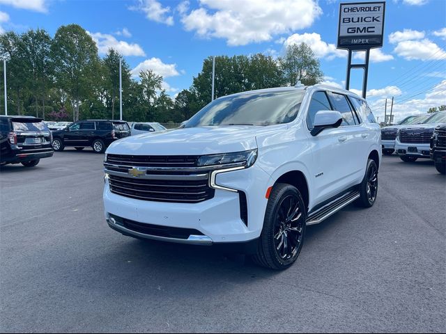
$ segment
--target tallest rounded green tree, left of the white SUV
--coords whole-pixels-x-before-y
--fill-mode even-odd
[[[70,95],[73,120],[79,120],[79,105],[89,94],[98,70],[98,48],[81,26],[69,24],[57,29],[51,54],[56,82]]]

